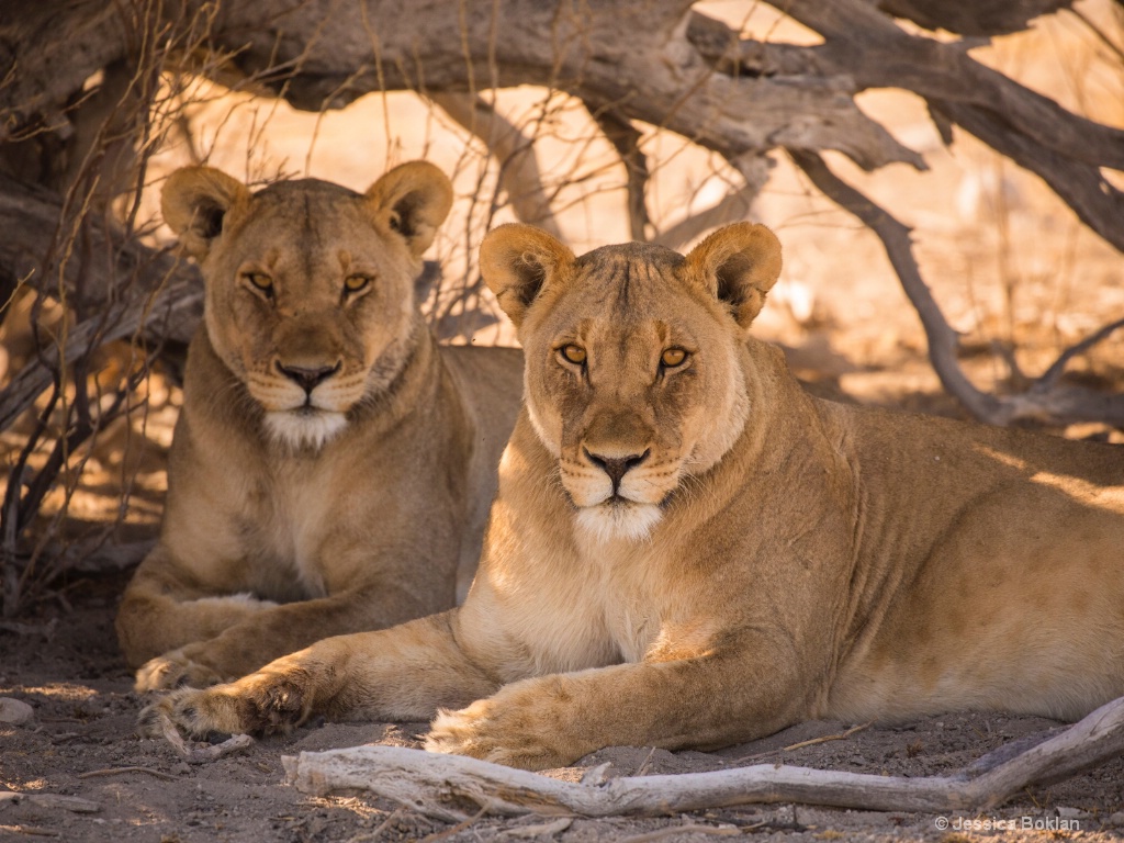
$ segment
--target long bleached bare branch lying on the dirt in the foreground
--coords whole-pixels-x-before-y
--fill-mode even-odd
[[[492,814],[676,814],[749,805],[805,803],[865,810],[988,810],[1023,788],[1058,781],[1124,752],[1124,698],[984,773],[906,779],[758,764],[678,776],[618,778],[591,786],[460,755],[399,746],[302,752],[282,759],[287,780],[316,796],[366,790],[445,821],[465,805]]]

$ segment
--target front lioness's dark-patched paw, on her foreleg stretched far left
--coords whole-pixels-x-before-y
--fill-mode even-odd
[[[309,696],[298,682],[269,673],[203,690],[182,688],[146,706],[137,732],[146,737],[166,735],[169,727],[185,737],[289,732],[307,719]]]

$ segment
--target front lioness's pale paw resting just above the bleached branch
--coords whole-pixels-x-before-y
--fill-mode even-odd
[[[558,720],[544,720],[533,710],[513,709],[491,698],[460,711],[441,709],[425,747],[524,770],[550,770],[586,754],[569,745],[572,742],[562,732]]]

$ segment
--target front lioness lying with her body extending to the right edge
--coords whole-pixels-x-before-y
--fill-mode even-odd
[[[1124,448],[809,397],[746,336],[780,270],[763,226],[686,257],[505,226],[481,265],[526,407],[463,607],[176,691],[144,728],[436,710],[429,749],[541,769],[1124,694]]]

